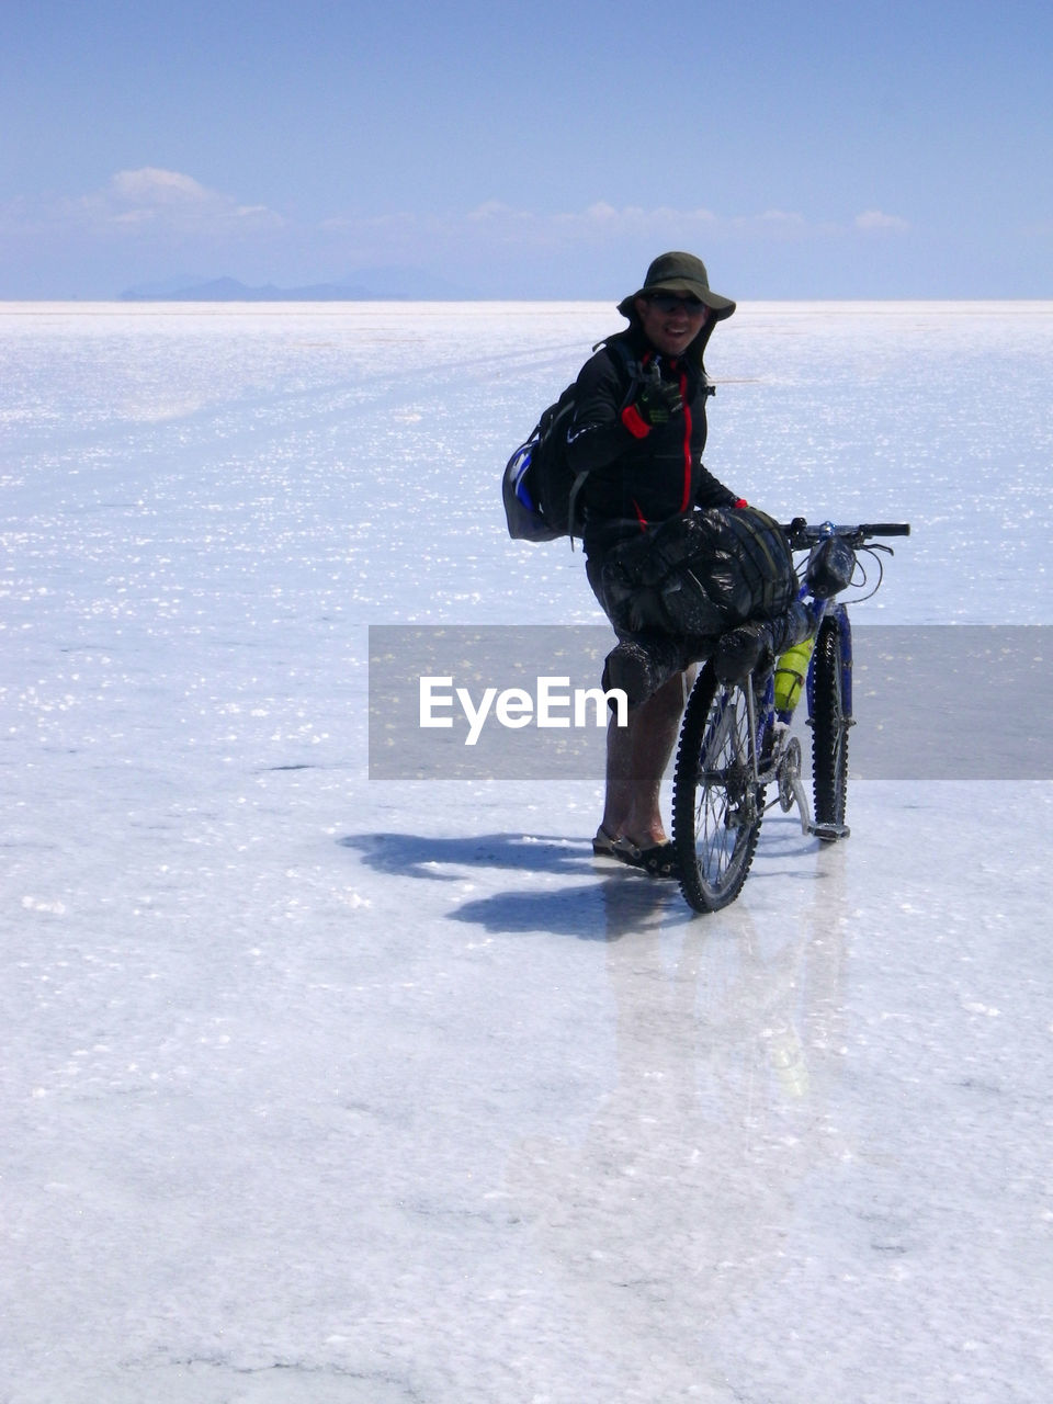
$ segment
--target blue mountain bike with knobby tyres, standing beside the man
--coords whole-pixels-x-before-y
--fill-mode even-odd
[[[782,658],[764,658],[746,677],[722,681],[710,657],[699,670],[688,698],[680,731],[673,781],[673,844],[680,865],[680,885],[687,903],[699,913],[719,911],[736,900],[750,875],[761,824],[768,809],[779,804],[789,813],[796,804],[802,831],[823,842],[847,838],[848,731],[852,719],[852,630],[848,608],[834,597],[858,580],[858,556],[866,553],[878,564],[879,552],[890,546],[879,536],[908,536],[907,522],[869,522],[835,526],[809,525],[797,518],[785,526],[790,548],[807,550],[804,583],[799,591],[809,633]],[[824,545],[824,543],[841,543]],[[841,557],[833,573],[817,569],[826,552]],[[854,601],[859,602],[859,600]],[[788,660],[802,660],[809,651],[806,674],[781,678],[776,703],[776,673],[793,674]],[[803,650],[803,651],[802,651]],[[812,727],[812,795],[814,817],[802,779],[802,747],[790,734],[796,694],[807,696],[807,724]],[[769,785],[776,797],[765,800]]]

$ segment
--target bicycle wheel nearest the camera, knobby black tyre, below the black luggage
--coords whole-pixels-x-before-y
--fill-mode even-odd
[[[673,779],[673,842],[680,886],[695,911],[734,901],[764,820],[764,786],[744,685],[723,685],[706,663],[688,699]]]

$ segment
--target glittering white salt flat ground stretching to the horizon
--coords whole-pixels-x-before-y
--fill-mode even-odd
[[[368,625],[598,621],[497,477],[618,326],[0,305],[4,1404],[1053,1393],[1047,786],[856,782],[694,918],[598,778],[366,778]],[[1052,352],[746,305],[708,462],[913,522],[859,622],[1049,625]]]

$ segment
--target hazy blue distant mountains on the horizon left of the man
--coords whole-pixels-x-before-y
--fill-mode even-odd
[[[237,278],[167,278],[139,284],[122,302],[458,302],[472,293],[420,268],[369,268],[347,282],[316,282],[306,288],[249,286]]]

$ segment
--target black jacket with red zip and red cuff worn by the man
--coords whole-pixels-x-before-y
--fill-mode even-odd
[[[630,327],[611,343],[626,344],[643,368],[654,350]],[[626,409],[630,376],[625,357],[609,343],[585,362],[577,378],[576,410],[567,434],[567,459],[574,473],[588,469],[577,512],[584,522],[588,555],[604,552],[647,524],[692,507],[731,505],[737,497],[702,463],[706,444],[705,372],[689,355],[658,358],[663,379],[677,380],[684,413],[647,428]]]

